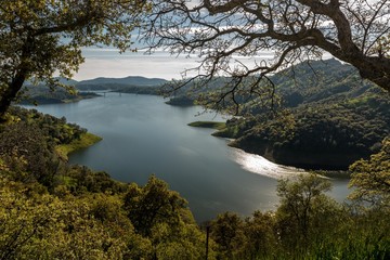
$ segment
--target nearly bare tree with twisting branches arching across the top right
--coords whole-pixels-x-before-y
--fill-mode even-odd
[[[219,102],[272,94],[259,84],[268,75],[324,53],[389,91],[389,0],[156,0],[143,39],[151,51],[198,55],[193,70],[205,82],[232,77]]]

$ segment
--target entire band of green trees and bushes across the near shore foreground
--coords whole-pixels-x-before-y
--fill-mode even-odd
[[[0,259],[388,259],[390,140],[351,166],[348,204],[316,174],[281,180],[275,211],[196,223],[186,200],[70,166],[57,147],[86,130],[13,107],[0,129]],[[208,238],[207,238],[208,237]]]

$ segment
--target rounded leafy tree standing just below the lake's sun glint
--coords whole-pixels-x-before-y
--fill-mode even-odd
[[[280,181],[276,218],[285,247],[304,250],[311,242],[320,240],[316,236],[328,229],[337,213],[336,203],[325,195],[329,190],[330,182],[313,173],[299,176],[295,182]]]

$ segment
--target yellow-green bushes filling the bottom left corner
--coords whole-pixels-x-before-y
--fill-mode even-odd
[[[126,238],[136,238],[125,225],[122,236],[109,232],[82,199],[29,193],[1,178],[0,259],[120,259]]]

